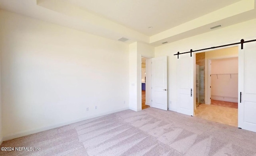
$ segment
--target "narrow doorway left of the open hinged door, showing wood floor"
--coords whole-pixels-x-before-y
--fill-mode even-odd
[[[146,109],[149,108],[150,105],[148,105],[148,103],[146,103],[146,92],[148,90],[146,90],[146,60],[148,60],[149,58],[146,57],[141,57],[141,108],[142,109]],[[150,90],[151,91],[151,90]],[[149,92],[149,91],[148,91]],[[147,94],[148,95],[148,94]]]

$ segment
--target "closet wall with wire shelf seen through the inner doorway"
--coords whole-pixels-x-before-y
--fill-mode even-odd
[[[212,99],[237,102],[238,57],[211,60],[211,74]]]

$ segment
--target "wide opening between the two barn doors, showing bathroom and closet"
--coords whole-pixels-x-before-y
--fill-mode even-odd
[[[238,127],[238,47],[196,54],[194,115]]]

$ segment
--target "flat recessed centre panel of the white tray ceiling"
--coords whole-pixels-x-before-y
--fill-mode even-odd
[[[240,0],[67,0],[151,36]],[[148,27],[153,27],[148,29]]]

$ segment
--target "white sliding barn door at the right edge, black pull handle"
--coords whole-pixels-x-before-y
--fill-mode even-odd
[[[256,42],[238,52],[238,127],[256,132]]]

